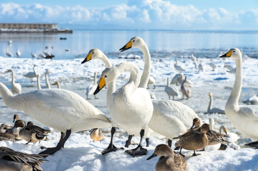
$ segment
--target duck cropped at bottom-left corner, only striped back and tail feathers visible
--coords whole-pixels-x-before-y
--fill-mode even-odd
[[[0,147],[0,151],[1,170],[43,171],[40,165],[42,165],[44,161],[47,161],[43,158],[48,156],[21,153],[7,147]]]

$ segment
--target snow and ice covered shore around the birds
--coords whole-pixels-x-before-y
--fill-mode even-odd
[[[75,93],[86,98],[86,88],[89,84],[93,83],[94,72],[98,72],[98,78],[104,68],[103,63],[99,60],[93,60],[82,65],[80,62],[82,58],[74,60],[37,60],[26,58],[3,58],[0,57],[0,82],[3,82],[9,88],[11,87],[11,74],[4,73],[8,69],[12,68],[16,74],[16,82],[22,85],[22,92],[28,92],[37,89],[36,82],[30,83],[30,80],[23,77],[27,72],[33,71],[33,64],[37,64],[36,70],[41,73],[42,87],[45,86],[46,69],[49,69],[52,73],[49,74],[50,83],[55,81],[61,82],[61,88],[74,91]],[[205,151],[199,152],[202,155],[197,157],[191,157],[192,152],[183,150],[186,155],[186,161],[188,163],[188,170],[258,170],[258,151],[252,148],[247,148],[244,144],[250,142],[247,137],[240,134],[235,129],[232,123],[228,120],[226,115],[221,114],[204,114],[207,112],[209,96],[208,93],[213,93],[213,107],[224,109],[225,103],[230,94],[231,88],[234,84],[235,76],[226,72],[223,69],[223,59],[214,59],[214,63],[218,65],[218,69],[212,71],[208,63],[210,59],[201,59],[203,63],[206,63],[206,72],[198,72],[195,70],[193,62],[188,58],[179,58],[179,65],[184,66],[184,75],[189,80],[195,83],[192,90],[192,98],[188,100],[181,100],[175,98],[187,106],[191,107],[197,115],[204,122],[208,122],[208,119],[213,117],[216,124],[215,130],[218,131],[221,125],[224,125],[228,132],[235,132],[240,136],[237,144],[241,149],[234,151],[232,148],[228,148],[226,151]],[[126,59],[111,59],[113,65],[122,61],[133,61],[141,70],[143,70],[144,61],[139,60],[126,60]],[[227,63],[235,67],[235,62],[231,59],[226,60]],[[249,96],[258,93],[258,72],[257,72],[257,59],[248,59],[244,61],[244,73],[243,73],[243,88],[240,96],[240,104],[244,99]],[[152,89],[158,99],[168,99],[167,94],[164,92],[164,87],[167,84],[167,77],[174,77],[178,73],[174,68],[174,60],[172,58],[163,58],[163,61],[154,59],[152,61],[151,75],[156,79],[156,89]],[[117,88],[121,87],[129,78],[128,73],[124,73],[117,79]],[[34,78],[34,81],[36,79]],[[55,86],[52,85],[52,88]],[[178,86],[180,89],[180,86]],[[97,94],[99,99],[88,100],[95,107],[99,108],[105,114],[109,115],[109,111],[106,107],[106,89]],[[0,115],[1,123],[7,125],[13,125],[12,118],[14,114],[18,114],[20,119],[25,122],[33,121],[35,125],[44,126],[37,122],[33,118],[30,118],[26,113],[22,111],[12,110],[7,108],[0,99]],[[155,147],[158,144],[166,143],[166,139],[162,137],[150,138],[150,147],[148,147],[147,156],[139,156],[132,158],[128,154],[124,153],[126,149],[135,147],[129,146],[125,150],[109,153],[105,156],[101,155],[101,151],[106,148],[110,141],[110,128],[103,129],[106,137],[99,142],[93,142],[89,137],[89,131],[79,132],[71,134],[70,138],[65,144],[65,148],[61,149],[52,156],[47,157],[49,162],[43,164],[43,169],[46,171],[52,170],[155,170],[155,164],[158,160],[153,158],[146,160],[150,156]],[[49,141],[43,141],[40,144],[28,144],[25,141],[18,143],[0,141],[0,146],[7,146],[16,151],[25,153],[39,153],[40,146],[52,147],[57,144],[60,138],[60,133],[54,131],[48,138]],[[114,137],[114,144],[118,147],[124,146],[127,140],[127,134],[122,129],[118,129]],[[132,143],[138,143],[139,138],[133,137]],[[145,141],[143,141],[145,146]],[[174,147],[174,143],[173,143]]]

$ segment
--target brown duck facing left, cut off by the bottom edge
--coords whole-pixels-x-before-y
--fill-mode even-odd
[[[166,144],[159,144],[154,153],[147,158],[150,160],[156,156],[161,156],[156,163],[156,171],[186,171],[187,163],[179,154],[174,154],[174,151]]]

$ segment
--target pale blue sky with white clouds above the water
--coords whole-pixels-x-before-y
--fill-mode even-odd
[[[1,0],[0,22],[89,30],[257,30],[258,1]]]

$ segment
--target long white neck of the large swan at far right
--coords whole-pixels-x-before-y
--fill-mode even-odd
[[[243,66],[242,66],[242,55],[240,58],[235,59],[236,63],[236,78],[233,89],[230,93],[226,106],[230,108],[238,107],[238,101],[242,89],[242,76],[243,76]]]

